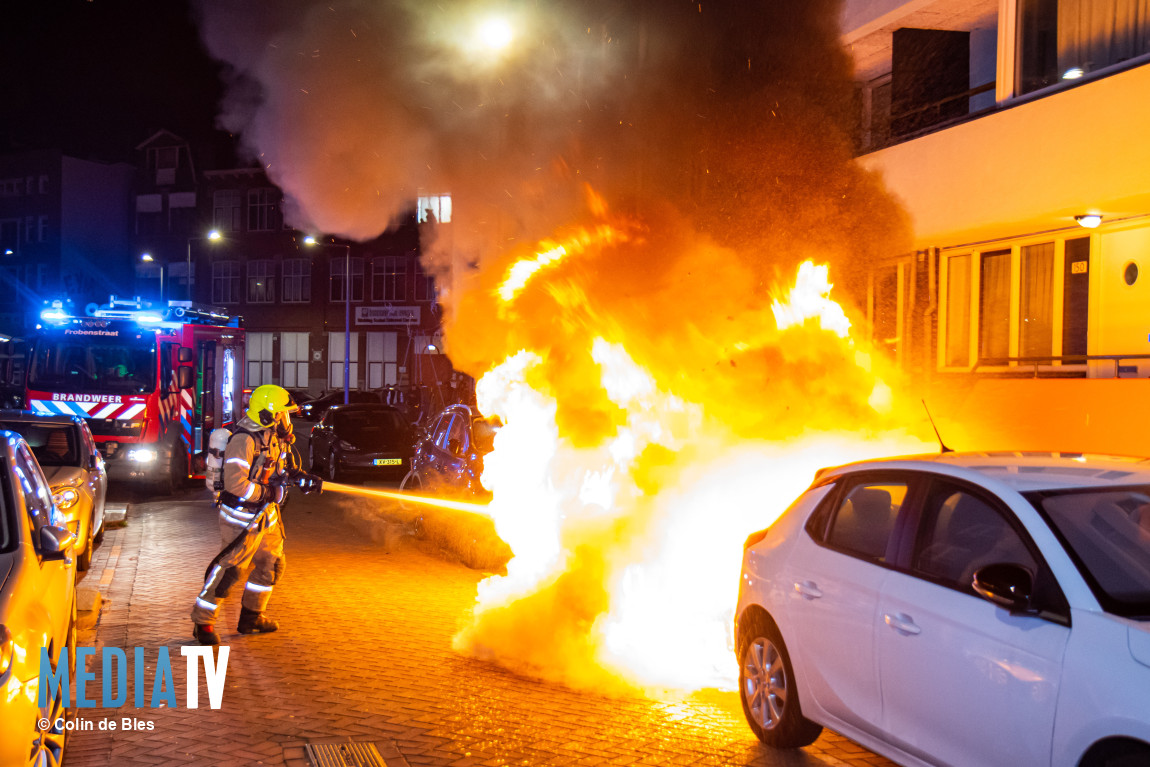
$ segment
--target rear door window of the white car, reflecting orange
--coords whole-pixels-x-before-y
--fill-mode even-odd
[[[830,521],[827,544],[877,562],[887,561],[887,544],[906,489],[905,483],[887,481],[849,485]]]

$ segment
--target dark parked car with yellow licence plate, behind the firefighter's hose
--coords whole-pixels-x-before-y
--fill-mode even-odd
[[[389,405],[332,405],[312,428],[307,455],[312,470],[332,482],[401,480],[411,468],[414,442],[412,425]]]

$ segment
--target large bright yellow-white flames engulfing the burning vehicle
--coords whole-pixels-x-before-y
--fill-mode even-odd
[[[507,329],[526,343],[477,384],[480,409],[505,423],[482,481],[514,558],[480,584],[455,644],[582,685],[733,689],[747,534],[820,467],[930,445],[891,428],[892,368],[851,337],[826,264],[803,263],[769,312],[764,294],[729,337],[691,327],[677,350],[644,343],[642,313],[591,300],[585,277],[641,230],[578,229],[501,270],[496,313],[551,332]],[[593,263],[581,269],[581,258]],[[683,360],[716,348],[729,360],[703,375],[722,385],[699,385]],[[756,394],[731,401],[741,363],[738,391]]]

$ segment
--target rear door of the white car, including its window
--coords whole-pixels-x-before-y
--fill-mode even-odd
[[[834,719],[877,733],[882,722],[874,655],[879,595],[897,550],[896,522],[912,477],[850,475],[800,535],[781,586],[790,596],[802,695]],[[804,704],[806,705],[806,704]]]

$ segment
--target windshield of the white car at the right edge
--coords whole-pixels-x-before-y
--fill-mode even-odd
[[[1150,485],[1027,493],[1107,612],[1150,618]]]

